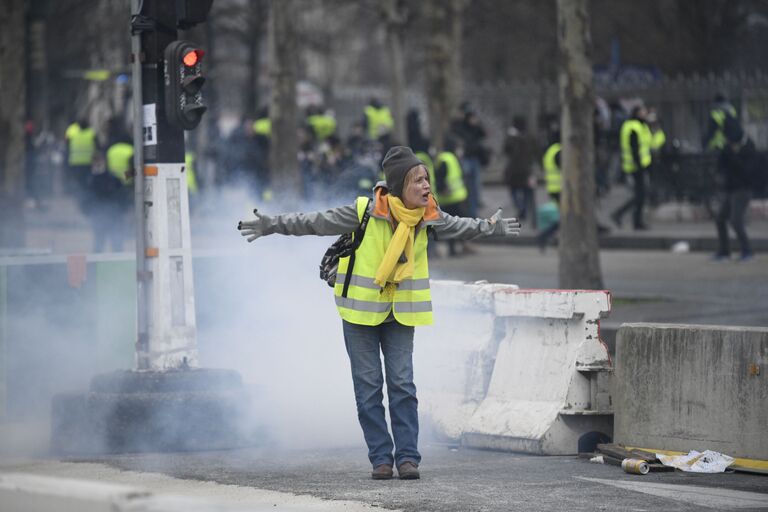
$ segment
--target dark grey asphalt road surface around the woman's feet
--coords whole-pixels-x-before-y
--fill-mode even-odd
[[[638,476],[577,457],[539,457],[429,443],[423,443],[422,451],[419,481],[371,480],[362,447],[264,447],[122,455],[90,462],[414,512],[768,509],[768,477],[764,476]]]

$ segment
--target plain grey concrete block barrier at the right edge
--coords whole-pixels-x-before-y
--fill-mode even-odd
[[[615,441],[768,459],[768,328],[624,324]]]

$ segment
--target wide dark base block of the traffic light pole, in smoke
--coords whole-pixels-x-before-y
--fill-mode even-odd
[[[118,371],[53,397],[57,455],[204,451],[252,445],[250,397],[233,370]]]

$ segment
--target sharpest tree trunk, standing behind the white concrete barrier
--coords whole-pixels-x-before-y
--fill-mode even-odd
[[[590,0],[557,0],[563,191],[560,287],[600,289],[595,221],[595,154]]]

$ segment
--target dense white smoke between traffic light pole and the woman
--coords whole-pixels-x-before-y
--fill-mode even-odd
[[[254,206],[267,214],[321,206],[300,200],[262,206],[233,191],[216,203],[205,208],[212,211],[204,221],[211,238],[197,237],[194,249],[226,253],[195,262],[202,365],[240,372],[253,393],[250,419],[265,428],[270,444],[360,445],[341,319],[333,291],[318,277],[335,237],[271,235],[248,243],[236,230]]]

